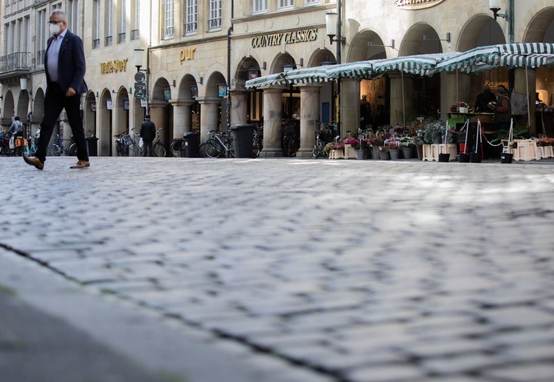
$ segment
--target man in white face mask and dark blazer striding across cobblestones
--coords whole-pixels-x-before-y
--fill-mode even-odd
[[[48,48],[44,57],[46,72],[46,95],[44,97],[44,117],[40,122],[35,158],[23,155],[25,163],[42,170],[46,160],[46,150],[54,130],[54,125],[65,108],[69,125],[77,145],[77,163],[71,169],[83,169],[90,166],[86,151],[83,120],[79,112],[81,94],[86,93],[85,53],[83,41],[67,29],[65,13],[56,9],[50,13],[48,22],[52,37],[48,39]]]

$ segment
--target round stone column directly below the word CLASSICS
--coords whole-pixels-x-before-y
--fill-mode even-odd
[[[315,130],[320,119],[319,95],[321,86],[308,85],[300,87],[300,149],[298,158],[310,157],[315,143]]]

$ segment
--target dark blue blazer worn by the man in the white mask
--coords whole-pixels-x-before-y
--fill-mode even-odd
[[[50,83],[48,75],[48,49],[54,40],[54,36],[48,39],[48,48],[44,55],[44,69],[46,71],[47,84]],[[65,33],[64,40],[61,41],[60,54],[58,56],[58,82],[61,90],[65,93],[69,87],[73,87],[77,94],[83,94],[88,91],[85,83],[85,50],[81,38],[69,32]]]

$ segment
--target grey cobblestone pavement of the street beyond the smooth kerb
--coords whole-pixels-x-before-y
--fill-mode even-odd
[[[4,248],[314,381],[554,381],[551,166],[71,163],[0,161]]]

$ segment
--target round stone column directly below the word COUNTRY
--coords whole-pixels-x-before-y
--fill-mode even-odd
[[[283,108],[283,88],[270,87],[264,89],[264,148],[260,158],[283,156],[281,143],[281,109]]]

